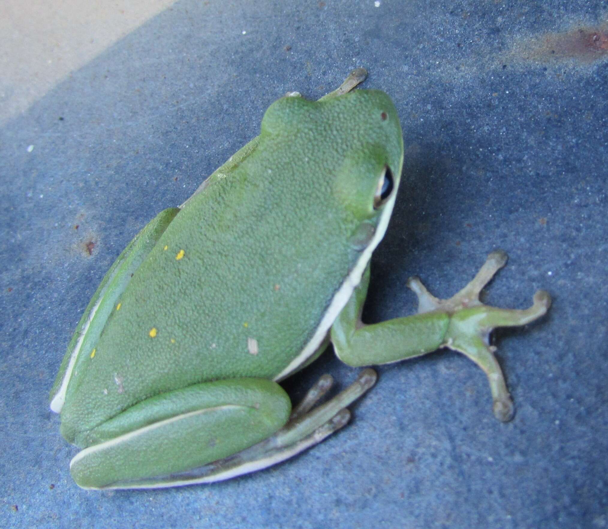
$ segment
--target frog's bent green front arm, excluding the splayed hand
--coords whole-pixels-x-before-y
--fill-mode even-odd
[[[369,282],[368,264],[361,283],[331,328],[331,342],[342,362],[354,367],[387,364],[441,347],[450,320],[446,313],[414,314],[364,325],[361,312]]]

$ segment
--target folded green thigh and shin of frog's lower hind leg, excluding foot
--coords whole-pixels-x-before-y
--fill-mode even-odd
[[[83,488],[120,486],[186,471],[269,437],[289,418],[291,401],[276,382],[257,378],[202,382],[157,395],[91,432],[101,442],[74,459]]]

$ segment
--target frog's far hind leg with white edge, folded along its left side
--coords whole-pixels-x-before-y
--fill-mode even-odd
[[[116,304],[120,294],[178,212],[179,209],[173,207],[159,213],[137,233],[103,277],[67,346],[67,353],[50,390],[50,409],[54,412],[59,413],[63,407],[67,384],[78,359],[94,354],[94,344],[97,344],[108,317],[114,309],[120,308]],[[80,355],[81,351],[85,351],[85,354]]]

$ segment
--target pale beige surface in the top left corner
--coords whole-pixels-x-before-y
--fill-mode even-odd
[[[0,124],[175,0],[2,0]]]

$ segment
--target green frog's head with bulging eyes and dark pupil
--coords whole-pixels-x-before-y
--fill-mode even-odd
[[[325,219],[326,235],[337,228],[336,240],[346,237],[358,251],[373,249],[389,223],[403,164],[401,125],[390,97],[378,90],[316,102],[299,94],[283,97],[266,111],[261,128],[266,148],[284,156],[273,158],[277,172],[293,175],[273,182],[282,187],[283,202],[292,198],[291,211],[303,210],[316,228]]]

